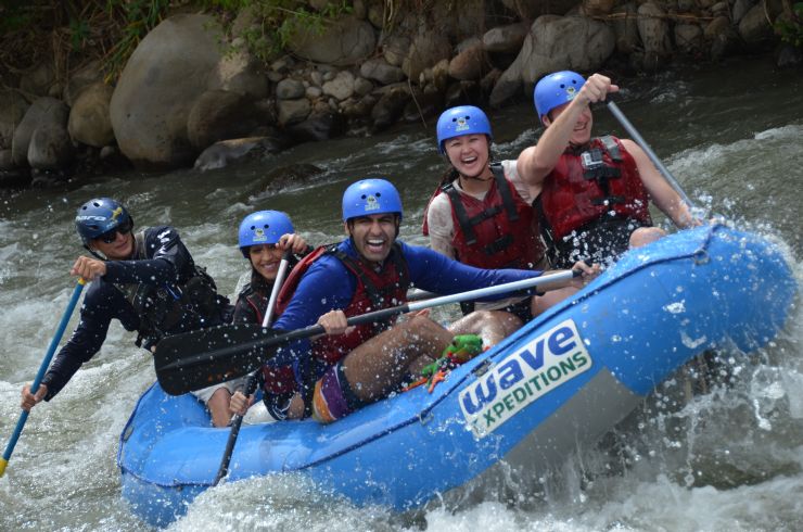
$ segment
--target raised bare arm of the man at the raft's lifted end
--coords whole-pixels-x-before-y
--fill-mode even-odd
[[[562,113],[549,122],[547,128],[538,139],[538,143],[524,149],[519,155],[518,169],[521,178],[537,190],[544,179],[558,164],[561,154],[566,149],[581,114],[594,102],[603,101],[609,92],[616,92],[619,87],[611,85],[611,79],[601,74],[594,74],[577,92]]]

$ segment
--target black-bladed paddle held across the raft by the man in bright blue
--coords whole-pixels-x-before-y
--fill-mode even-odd
[[[582,273],[578,270],[566,270],[496,287],[410,302],[361,316],[353,316],[348,318],[347,324],[355,326],[381,321],[398,314],[531,289],[579,275]],[[234,379],[259,368],[269,356],[265,354],[266,347],[323,332],[323,327],[319,325],[283,332],[255,325],[238,324],[166,337],[156,344],[154,353],[156,377],[165,392],[180,395]]]

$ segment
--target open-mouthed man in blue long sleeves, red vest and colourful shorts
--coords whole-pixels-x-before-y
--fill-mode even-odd
[[[348,328],[347,316],[404,304],[411,286],[450,294],[540,275],[474,268],[399,242],[401,216],[401,200],[391,182],[366,179],[352,185],[343,195],[348,239],[308,255],[285,281],[277,308],[281,315],[273,327],[295,330],[317,321],[327,331],[313,341],[298,340],[280,349],[267,363],[295,365],[299,392],[291,402],[288,419],[313,415],[321,422],[332,422],[386,396],[416,368],[439,355],[455,334],[482,333],[490,313],[470,314],[448,329],[430,319],[425,311],[398,322],[391,319]],[[586,278],[599,271],[585,264],[576,267]],[[582,286],[583,279],[553,282],[547,289],[568,283]],[[512,332],[504,324],[484,326],[501,328],[501,335]],[[244,400],[234,394],[232,409]]]

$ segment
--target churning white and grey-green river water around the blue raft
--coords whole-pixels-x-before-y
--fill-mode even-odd
[[[709,213],[774,239],[799,282],[803,269],[803,71],[766,59],[622,80],[620,107]],[[539,135],[532,106],[490,115],[497,159]],[[604,109],[596,130],[625,136]],[[303,187],[259,193],[263,176],[293,163],[323,174]],[[75,208],[123,200],[140,226],[170,224],[226,293],[246,270],[235,249],[240,219],[257,208],[291,214],[311,243],[340,238],[340,195],[353,180],[383,176],[406,206],[401,238],[423,243],[420,223],[444,167],[434,121],[392,134],[296,147],[262,164],[200,174],[105,177],[79,188],[29,190],[0,205],[0,443],[16,423],[75,286],[80,253]],[[77,315],[77,313],[76,313]],[[303,479],[276,477],[207,491],[174,530],[801,530],[803,529],[803,312],[766,350],[735,354],[732,382],[678,402],[662,387],[604,439],[582,446],[538,486],[411,514],[358,508]],[[76,322],[71,322],[72,330]],[[142,530],[119,496],[117,439],[153,382],[150,356],[114,324],[99,355],[28,419],[0,479],[0,530]],[[514,496],[511,497],[510,493]]]

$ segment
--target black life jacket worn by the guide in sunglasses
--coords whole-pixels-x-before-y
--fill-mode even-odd
[[[145,233],[135,238],[131,259],[148,259]],[[206,269],[191,266],[190,276],[182,283],[166,283],[162,287],[141,283],[115,283],[139,317],[137,346],[144,343],[150,347],[167,334],[189,331],[211,325],[213,317],[221,311],[217,287]]]

